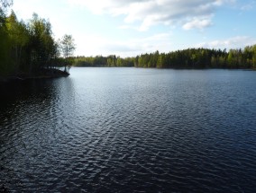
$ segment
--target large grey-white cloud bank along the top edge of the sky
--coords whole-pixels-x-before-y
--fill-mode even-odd
[[[141,31],[157,24],[179,23],[185,30],[203,29],[212,24],[215,9],[235,0],[69,0],[96,14],[123,15],[124,22],[141,22]]]

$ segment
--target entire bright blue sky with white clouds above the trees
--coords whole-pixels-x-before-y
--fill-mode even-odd
[[[256,44],[256,0],[14,0],[19,20],[49,19],[75,56],[134,57],[185,48]]]

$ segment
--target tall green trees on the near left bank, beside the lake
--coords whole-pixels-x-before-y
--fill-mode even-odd
[[[54,39],[50,22],[36,13],[29,22],[19,21],[14,11],[7,16],[12,4],[10,0],[0,0],[0,75],[32,75],[67,65],[66,58],[75,48],[72,37]]]

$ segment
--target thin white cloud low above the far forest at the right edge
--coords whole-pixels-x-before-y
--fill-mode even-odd
[[[256,44],[256,39],[249,36],[236,36],[230,39],[217,39],[209,42],[202,42],[196,45],[197,48],[244,48]]]

